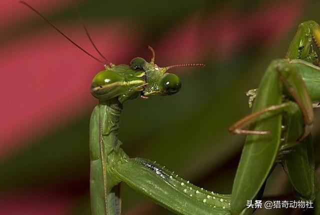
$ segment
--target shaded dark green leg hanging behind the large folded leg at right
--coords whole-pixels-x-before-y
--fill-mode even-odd
[[[294,195],[303,201],[312,201],[314,187],[314,155],[311,135],[302,141],[296,141],[303,132],[302,113],[297,105],[283,115],[282,142],[279,161],[291,182]],[[285,150],[285,154],[283,151]]]

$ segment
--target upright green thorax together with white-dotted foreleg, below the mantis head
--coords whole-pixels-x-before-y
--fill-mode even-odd
[[[90,199],[92,215],[119,215],[114,187],[125,182],[157,204],[181,215],[228,215],[230,196],[200,189],[145,159],[130,159],[119,147],[121,104],[100,102],[90,120]],[[104,162],[103,162],[104,161]]]

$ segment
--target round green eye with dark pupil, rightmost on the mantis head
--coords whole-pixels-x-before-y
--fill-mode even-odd
[[[160,80],[159,88],[164,95],[177,93],[181,88],[180,78],[175,74],[166,73]]]

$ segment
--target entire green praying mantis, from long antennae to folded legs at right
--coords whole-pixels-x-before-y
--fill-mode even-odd
[[[20,2],[38,13],[27,3]],[[104,64],[39,15],[75,46]],[[246,208],[246,202],[261,197],[267,177],[277,163],[283,165],[294,194],[303,200],[313,200],[314,156],[310,127],[312,102],[320,100],[317,87],[320,68],[313,50],[317,44],[320,44],[319,25],[314,21],[300,24],[285,59],[272,61],[258,89],[250,91],[252,114],[229,128],[230,132],[248,135],[231,195],[200,189],[154,162],[129,158],[120,148],[117,137],[122,104],[126,100],[175,94],[181,82],[167,70],[203,64],[159,67],[154,62],[154,50],[148,46],[152,52],[150,62],[136,57],[128,65],[105,65],[105,69],[94,76],[90,88],[98,100],[90,119],[92,215],[121,214],[121,182],[180,215],[251,214],[252,209]],[[249,129],[244,130],[247,125]]]

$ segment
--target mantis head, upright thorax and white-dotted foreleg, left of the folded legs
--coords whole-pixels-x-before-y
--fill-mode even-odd
[[[163,207],[185,215],[227,215],[230,196],[199,189],[172,172],[145,159],[130,159],[119,147],[117,130],[122,103],[138,95],[171,95],[179,91],[179,78],[166,71],[182,64],[158,67],[152,58],[134,58],[129,65],[107,66],[92,80],[91,93],[98,99],[90,120],[90,198],[93,215],[120,214],[118,183]]]

